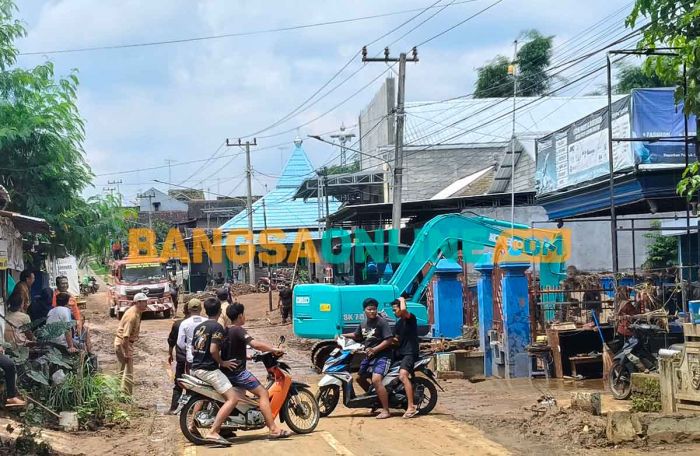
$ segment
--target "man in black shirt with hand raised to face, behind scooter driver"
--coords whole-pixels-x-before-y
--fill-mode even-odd
[[[418,361],[419,354],[418,322],[416,321],[416,316],[406,309],[406,300],[404,298],[395,299],[391,303],[391,308],[396,316],[394,339],[399,344],[396,354],[398,355],[397,358],[401,360],[399,379],[403,383],[406,390],[406,398],[408,399],[408,408],[403,417],[413,418],[418,414],[416,405],[413,403],[413,385],[411,384],[413,366]]]

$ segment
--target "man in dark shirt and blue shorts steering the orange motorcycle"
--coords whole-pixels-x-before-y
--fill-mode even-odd
[[[261,352],[273,352],[276,356],[281,356],[282,352],[272,345],[255,340],[253,336],[248,334],[248,331],[243,327],[245,324],[244,312],[245,306],[238,302],[229,304],[226,309],[231,325],[226,329],[222,353],[225,359],[235,361],[237,367],[235,369],[224,369],[224,373],[234,387],[243,388],[258,396],[260,412],[265,417],[265,424],[270,429],[269,438],[280,439],[289,437],[289,432],[280,429],[275,424],[275,418],[272,416],[272,408],[270,407],[270,394],[267,389],[262,386],[252,372],[246,369],[246,348],[248,345]]]

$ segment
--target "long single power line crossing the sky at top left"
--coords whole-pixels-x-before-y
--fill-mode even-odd
[[[454,5],[459,5],[459,4],[464,4],[464,3],[473,3],[475,1],[477,1],[477,0],[464,0],[464,1],[460,1],[460,2],[455,2]],[[434,6],[430,6],[428,8],[434,8]],[[331,20],[331,21],[315,22],[315,23],[310,23],[310,24],[291,25],[291,26],[286,26],[286,27],[276,27],[276,28],[270,28],[270,29],[251,30],[251,31],[247,31],[247,32],[224,33],[224,34],[219,34],[219,35],[205,35],[205,36],[198,36],[198,37],[179,38],[179,39],[161,40],[161,41],[146,41],[146,42],[141,42],[141,43],[113,44],[113,45],[106,45],[106,46],[90,46],[90,47],[83,47],[83,48],[55,49],[55,50],[48,50],[48,51],[28,51],[28,52],[20,52],[19,55],[48,55],[48,54],[67,54],[67,53],[74,53],[74,52],[93,52],[93,51],[103,51],[103,50],[129,49],[129,48],[161,46],[161,45],[169,45],[169,44],[180,44],[180,43],[189,43],[189,42],[195,42],[195,41],[217,40],[217,39],[222,39],[222,38],[233,38],[233,37],[241,37],[241,36],[263,35],[263,34],[268,34],[268,33],[287,32],[287,31],[292,31],[292,30],[301,30],[301,29],[314,28],[314,27],[324,27],[324,26],[329,26],[329,25],[337,25],[337,24],[344,24],[344,23],[366,21],[366,20],[378,19],[378,18],[382,18],[382,17],[397,16],[397,15],[401,15],[401,14],[414,13],[416,11],[421,11],[421,10],[424,10],[424,8],[413,8],[413,9],[402,10],[402,11],[393,11],[393,12],[389,12],[389,13],[374,14],[374,15],[370,15],[370,16],[360,16],[360,17],[353,17],[353,18],[348,18],[348,19],[336,19],[336,20]]]

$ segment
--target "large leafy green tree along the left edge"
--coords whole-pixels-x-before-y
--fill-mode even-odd
[[[8,209],[46,219],[53,244],[75,255],[101,253],[123,229],[124,214],[114,199],[81,197],[93,174],[76,72],[56,77],[51,62],[15,66],[14,41],[26,35],[15,10],[11,0],[0,0],[0,183],[12,199]]]

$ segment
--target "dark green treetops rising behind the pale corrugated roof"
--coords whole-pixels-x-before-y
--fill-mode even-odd
[[[543,36],[537,30],[529,30],[522,36],[526,42],[517,54],[517,94],[523,97],[545,94],[552,80],[546,70],[552,58],[554,37]],[[474,98],[513,96],[513,76],[509,74],[509,66],[510,59],[499,55],[478,68]]]

